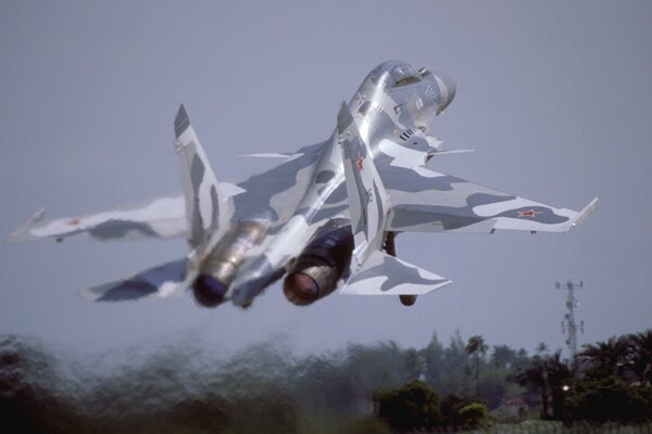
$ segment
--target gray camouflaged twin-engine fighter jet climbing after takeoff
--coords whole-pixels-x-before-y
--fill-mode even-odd
[[[451,283],[396,257],[402,232],[564,232],[595,208],[555,208],[427,167],[446,150],[432,123],[455,95],[446,75],[389,61],[342,102],[330,137],[237,184],[221,182],[184,105],[174,120],[184,195],[43,222],[9,241],[78,234],[97,240],[184,237],[189,253],[131,278],[82,290],[89,301],[171,297],[249,306],[285,277],[291,303],[333,293],[398,295],[403,305]]]

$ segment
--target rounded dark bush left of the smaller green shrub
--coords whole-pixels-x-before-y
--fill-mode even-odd
[[[432,430],[441,422],[439,395],[421,381],[374,396],[378,418],[398,432]]]

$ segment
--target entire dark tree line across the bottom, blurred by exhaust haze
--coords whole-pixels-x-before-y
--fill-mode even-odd
[[[188,342],[70,362],[0,336],[3,432],[403,432],[525,419],[639,423],[652,416],[652,330],[575,360],[481,336],[422,348],[349,344],[297,356],[283,341],[224,358]],[[383,431],[386,430],[386,431]]]

